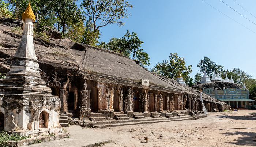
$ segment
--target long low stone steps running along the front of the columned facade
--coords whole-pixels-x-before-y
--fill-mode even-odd
[[[206,117],[206,114],[202,114],[198,116],[199,118]],[[158,123],[158,122],[170,122],[170,121],[182,121],[182,120],[195,120],[197,118],[193,116],[174,116],[170,118],[162,117],[162,118],[152,118],[152,117],[145,117],[145,118],[130,118],[129,120],[105,120],[101,122],[91,122],[90,126],[95,128],[105,128],[105,127],[117,127],[117,126],[124,126],[124,125],[138,125],[138,124],[151,124],[151,123]]]

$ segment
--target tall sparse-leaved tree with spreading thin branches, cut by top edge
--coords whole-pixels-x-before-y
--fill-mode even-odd
[[[93,18],[94,33],[107,24],[123,26],[124,22],[119,19],[128,18],[131,14],[127,14],[127,8],[133,8],[124,0],[84,0],[82,6],[87,10],[87,15]]]

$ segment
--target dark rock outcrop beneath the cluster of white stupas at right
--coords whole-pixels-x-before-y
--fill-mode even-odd
[[[206,89],[206,88],[214,88],[214,89],[222,89],[222,88],[242,88],[239,84],[237,83],[231,83],[231,82],[212,82],[212,83],[196,83],[192,86],[193,88],[201,88],[201,89]]]

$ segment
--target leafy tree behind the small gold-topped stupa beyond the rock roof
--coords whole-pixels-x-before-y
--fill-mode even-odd
[[[184,57],[178,57],[177,53],[171,53],[169,56],[170,60],[164,60],[162,63],[158,63],[153,68],[152,72],[161,74],[171,79],[176,78],[180,69],[182,77],[187,77],[192,72],[192,65],[186,66]]]

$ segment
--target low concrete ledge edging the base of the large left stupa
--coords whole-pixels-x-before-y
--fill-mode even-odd
[[[38,137],[27,138],[19,141],[6,141],[4,145],[5,146],[23,146],[23,145],[34,144],[39,142],[48,142],[55,139],[62,139],[68,136],[69,136],[68,133],[56,134],[55,136],[38,136]]]

